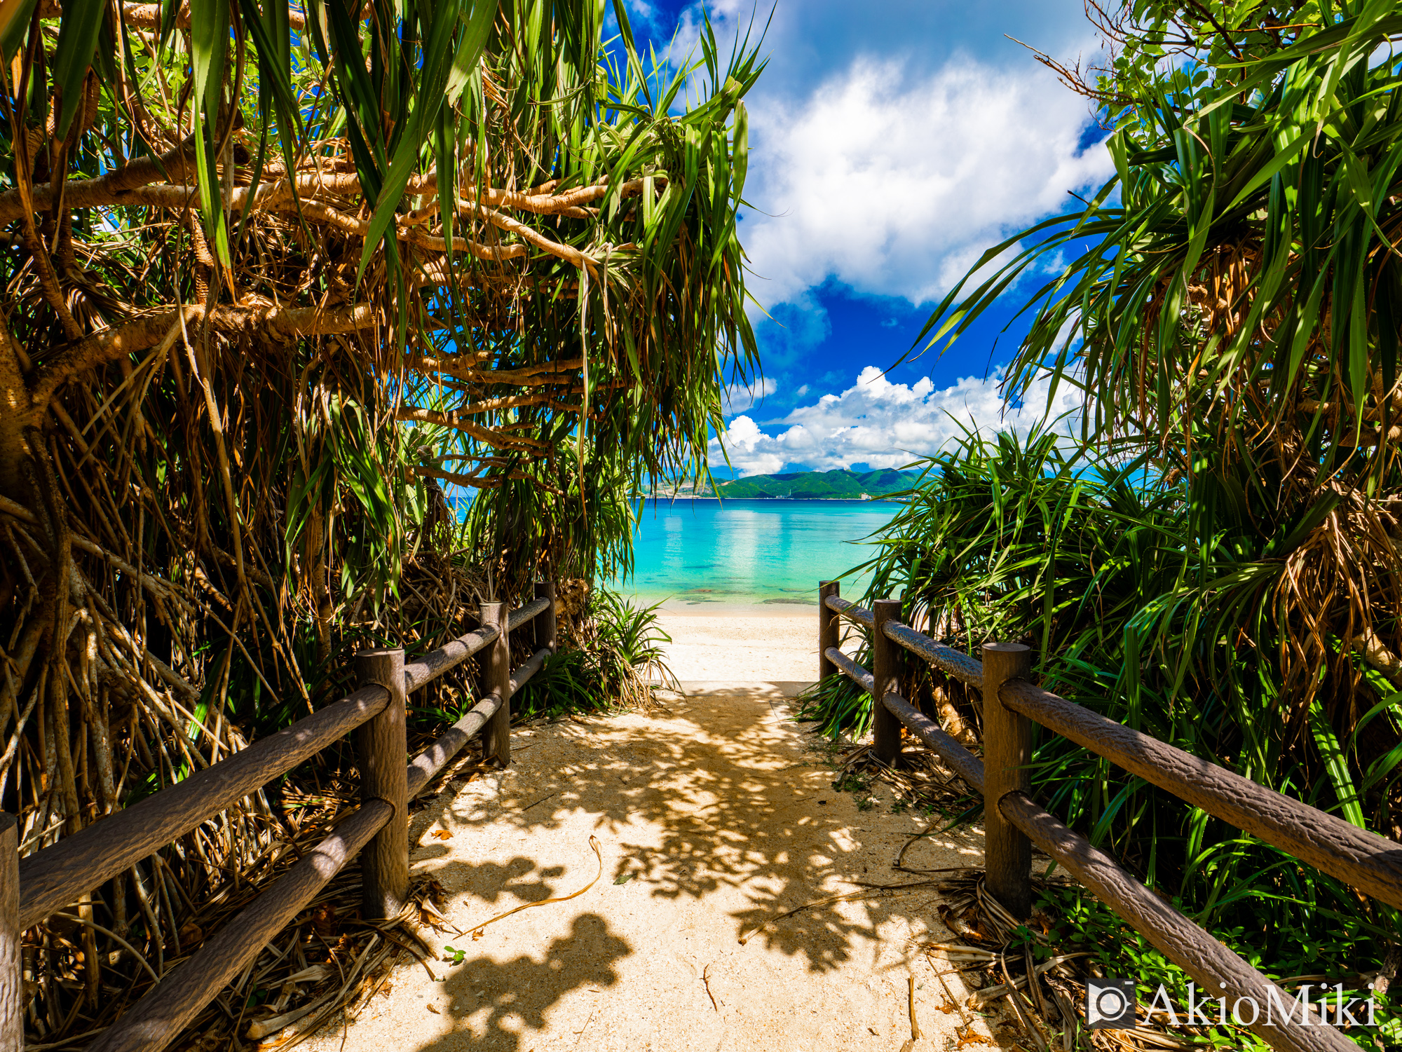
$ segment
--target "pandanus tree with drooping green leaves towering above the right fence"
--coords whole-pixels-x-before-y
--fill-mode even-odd
[[[1011,258],[970,275],[927,332],[956,339],[1015,281],[1071,259],[1028,302],[1008,390],[1050,370],[1053,390],[1084,393],[1092,442],[1182,484],[1195,567],[1141,627],[1150,641],[1155,613],[1186,617],[1187,635],[1138,656],[1189,693],[1269,694],[1280,732],[1238,762],[1270,778],[1312,708],[1347,736],[1402,687],[1402,11],[1088,13],[1110,67],[1059,69],[1109,128],[1116,177],[990,250],[984,265]]]

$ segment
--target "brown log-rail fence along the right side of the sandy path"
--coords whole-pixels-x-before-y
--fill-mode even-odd
[[[1255,1004],[1258,1018],[1245,1025],[1272,1048],[1357,1052],[1309,1007],[1295,1023],[1293,997],[1028,795],[1032,724],[1395,908],[1402,908],[1402,844],[1040,690],[1026,680],[1032,651],[1021,644],[986,642],[979,662],[901,624],[896,599],[878,599],[866,610],[843,599],[836,581],[819,582],[819,676],[841,672],[872,696],[872,750],[879,760],[896,760],[904,725],[983,794],[986,886],[1009,912],[1023,919],[1030,910],[1036,844],[1187,972],[1207,997],[1225,997],[1232,1011],[1242,1000]],[[837,648],[840,617],[871,630],[871,670]],[[906,651],[981,694],[983,760],[900,696]],[[1277,1021],[1269,1011],[1273,1004],[1290,1009],[1288,1014],[1281,1009],[1284,1018]]]

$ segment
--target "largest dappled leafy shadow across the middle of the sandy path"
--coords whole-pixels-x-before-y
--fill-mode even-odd
[[[700,901],[743,888],[750,905],[728,915],[736,937],[822,899],[836,884],[855,891],[857,882],[911,881],[889,868],[908,823],[896,829],[899,823],[880,814],[854,815],[851,798],[831,788],[823,753],[805,748],[785,725],[789,708],[778,692],[767,706],[753,699],[751,692],[742,703],[723,689],[687,697],[672,707],[673,718],[652,721],[646,735],[637,736],[618,735],[607,717],[551,727],[543,735],[555,753],[551,764],[533,766],[530,778],[503,780],[481,807],[450,804],[443,818],[467,839],[477,828],[503,822],[529,837],[583,809],[593,829],[621,851],[604,879],[628,877],[666,899]],[[660,828],[660,843],[631,843],[637,819]],[[887,829],[871,829],[879,825]],[[918,854],[913,850],[911,857]],[[524,865],[527,860],[517,858],[508,867],[475,867],[464,889],[489,902],[503,891],[545,898],[520,884],[526,870],[513,867]],[[513,871],[516,885],[503,882],[503,868]],[[809,971],[827,972],[851,959],[854,937],[875,937],[894,915],[920,910],[938,924],[930,902],[930,893],[908,892],[855,910],[817,905],[767,924],[753,940],[803,957]]]

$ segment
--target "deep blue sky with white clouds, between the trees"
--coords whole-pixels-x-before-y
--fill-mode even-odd
[[[694,46],[700,4],[627,1],[639,43]],[[770,11],[707,10],[725,42]],[[1026,289],[945,356],[885,370],[987,247],[1112,173],[1085,100],[1008,36],[1063,60],[1098,50],[1081,0],[778,0],[746,100],[742,240],[768,317],[751,311],[763,389],[732,391],[721,436],[737,474],[896,467],[948,440],[951,415],[1004,419],[1018,332],[1000,330]]]

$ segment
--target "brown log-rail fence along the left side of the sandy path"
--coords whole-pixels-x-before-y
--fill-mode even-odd
[[[243,972],[358,851],[367,919],[400,913],[409,891],[408,805],[478,732],[486,759],[510,762],[510,699],[555,649],[555,585],[536,585],[517,610],[482,603],[482,627],[411,665],[402,649],[356,655],[359,687],[292,727],[156,793],[125,811],[20,858],[13,815],[0,815],[0,1052],[24,1048],[20,937],[97,885],[233,807],[308,756],[356,731],[360,807],[315,850],[279,877],[184,965],[160,976],[90,1046],[90,1052],[160,1052]],[[510,638],[529,630],[534,651],[510,668]],[[405,701],[478,651],[488,651],[486,696],[405,767]],[[86,922],[79,922],[86,923]]]

